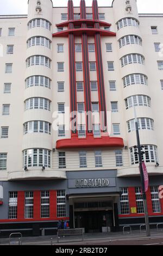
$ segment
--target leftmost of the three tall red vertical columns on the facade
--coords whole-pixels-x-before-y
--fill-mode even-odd
[[[68,20],[73,20],[73,2],[68,0]],[[73,29],[73,23],[70,22],[68,29]],[[72,135],[77,133],[76,129],[76,112],[77,111],[77,93],[76,93],[76,58],[74,51],[74,35],[73,33],[68,34],[68,49],[69,49],[69,75],[70,75],[70,112],[71,115],[71,130]]]

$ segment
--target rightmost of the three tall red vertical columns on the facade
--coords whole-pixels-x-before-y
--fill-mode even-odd
[[[92,2],[93,19],[99,20],[98,17],[98,4],[97,0]],[[99,23],[95,23],[95,28],[100,28]],[[96,33],[95,35],[95,47],[96,47],[96,65],[97,65],[97,82],[98,82],[98,96],[99,96],[99,110],[101,111],[101,130],[106,132],[106,101],[105,101],[105,87],[104,87],[104,72],[102,61],[102,48],[101,48],[101,35]]]

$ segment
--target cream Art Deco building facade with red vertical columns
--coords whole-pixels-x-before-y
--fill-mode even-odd
[[[84,215],[83,222],[79,223],[80,208],[76,210],[76,203],[85,202],[85,199],[81,199],[83,193],[87,194],[88,202],[108,202],[109,197],[109,202],[115,205],[107,206],[105,210],[111,212],[112,209],[114,212],[114,207],[117,207],[118,213],[102,217],[103,220],[108,218],[110,224],[99,221],[99,227],[93,224],[90,227],[90,230],[102,230],[101,225],[121,227],[126,223],[124,217],[128,218],[129,223],[133,223],[131,217],[143,218],[137,200],[130,201],[133,193],[131,188],[140,187],[139,162],[134,154],[137,144],[133,126],[134,106],[140,123],[141,145],[145,145],[143,159],[151,187],[148,199],[153,189],[157,193],[158,186],[163,182],[163,53],[161,48],[158,51],[155,48],[156,44],[163,43],[163,14],[138,14],[135,0],[114,0],[112,7],[98,8],[97,1],[92,2],[92,7],[86,8],[85,1],[81,1],[80,7],[72,7],[72,1],[68,1],[68,8],[53,8],[51,0],[29,0],[28,15],[0,16],[0,185],[5,187],[7,194],[32,190],[34,202],[38,191],[48,191],[50,213],[46,218],[57,221],[60,217],[70,217],[73,227],[85,227]],[[10,28],[15,28],[11,36]],[[7,49],[12,45],[13,53],[9,54]],[[86,50],[85,45],[91,45],[92,50]],[[93,63],[96,68],[91,71],[90,65]],[[10,73],[7,72],[7,64],[12,64]],[[82,71],[77,70],[78,64],[82,65]],[[77,89],[79,82],[83,84],[82,89]],[[95,89],[88,88],[87,84],[90,86],[91,82],[96,82]],[[5,84],[11,84],[8,93],[4,90]],[[59,84],[61,89],[58,89]],[[79,135],[78,125],[72,131],[66,129],[66,122],[70,121],[68,115],[71,111],[77,111],[79,103],[80,106],[83,103],[85,111],[92,111],[93,104],[98,103],[99,112],[107,113],[104,120],[106,130],[101,129],[98,137],[93,133],[93,128],[89,129],[85,115],[83,137]],[[65,114],[58,113],[60,109],[60,112],[64,112],[63,104]],[[9,106],[7,114],[4,111],[6,106]],[[54,126],[56,114],[64,118],[64,123],[58,123],[65,125],[65,130],[61,129],[60,133]],[[101,121],[95,120],[93,125]],[[80,124],[79,120],[77,122]],[[4,128],[7,127],[8,133],[4,136]],[[88,179],[114,177],[117,179],[116,186],[109,185],[108,190],[105,186],[98,190],[97,186],[93,191],[90,185],[90,191],[87,188],[86,192],[83,192],[83,187],[82,192],[78,191],[80,199],[73,199],[71,194],[76,194],[78,188],[72,189],[73,185],[71,187],[66,182],[73,179],[73,174],[78,179],[78,173],[80,179],[84,179],[82,172],[88,175]],[[89,173],[95,174],[95,177],[89,176]],[[11,189],[10,184],[11,187],[15,184],[15,188]],[[26,184],[24,189],[23,184]],[[111,187],[114,189],[111,190]],[[124,188],[128,188],[125,205]],[[121,189],[123,193],[120,195]],[[53,198],[54,191],[65,191],[65,197],[69,194],[70,199],[65,198],[65,214],[57,213],[59,203],[56,202],[59,201],[56,195],[56,199]],[[110,194],[113,192],[115,196]],[[92,199],[92,193],[96,194],[96,199]],[[104,198],[103,193],[106,194]],[[18,209],[18,198],[16,217],[25,223],[24,211]],[[152,202],[152,196],[150,198]],[[3,196],[2,203],[8,204],[7,201],[8,196]],[[56,203],[55,209],[51,202]],[[150,209],[149,215],[161,218],[162,200],[156,206],[152,203],[153,211]],[[5,204],[0,206],[2,223],[15,219],[8,217],[10,203],[9,206]],[[133,208],[137,208],[137,211],[133,212]],[[26,206],[22,206],[22,209],[26,212]],[[86,211],[88,209],[87,206]],[[35,209],[32,211],[30,221],[48,222],[48,219],[39,217]],[[73,215],[71,211],[77,214]],[[95,209],[91,211],[95,212]]]

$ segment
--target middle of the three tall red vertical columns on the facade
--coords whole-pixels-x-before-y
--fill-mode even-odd
[[[80,19],[86,19],[85,0],[80,1]],[[86,28],[86,23],[82,23],[82,28]],[[90,88],[90,66],[89,52],[87,43],[87,34],[82,34],[82,53],[83,53],[83,78],[84,78],[84,97],[86,115],[86,131],[92,132],[92,103],[91,103],[91,88]],[[86,132],[86,135],[87,135]]]

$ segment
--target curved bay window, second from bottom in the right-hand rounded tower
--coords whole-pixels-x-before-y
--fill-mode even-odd
[[[154,121],[151,118],[137,118],[139,130],[154,130]],[[127,122],[128,132],[135,131],[135,119]]]

